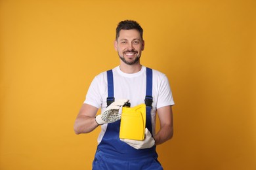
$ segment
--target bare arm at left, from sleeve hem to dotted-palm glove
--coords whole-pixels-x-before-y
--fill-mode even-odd
[[[74,131],[75,134],[89,133],[93,131],[98,124],[95,121],[95,116],[98,108],[92,105],[83,104],[77,118],[75,119]]]

